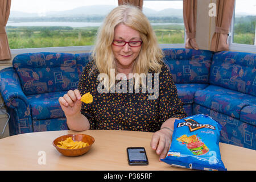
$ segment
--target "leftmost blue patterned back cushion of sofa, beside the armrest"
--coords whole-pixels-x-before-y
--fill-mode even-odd
[[[13,67],[26,95],[75,89],[79,83],[72,53],[23,53],[14,57]]]

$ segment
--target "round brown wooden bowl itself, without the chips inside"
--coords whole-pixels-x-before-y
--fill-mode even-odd
[[[73,141],[87,142],[89,146],[77,148],[77,149],[65,149],[65,148],[57,147],[57,144],[59,144],[60,141],[64,141],[69,137],[71,137]],[[93,143],[94,143],[94,138],[90,135],[85,135],[85,134],[63,135],[61,137],[56,138],[52,142],[53,146],[56,147],[57,151],[59,151],[61,154],[65,156],[79,156],[79,155],[85,154],[90,150],[90,147],[92,146]]]

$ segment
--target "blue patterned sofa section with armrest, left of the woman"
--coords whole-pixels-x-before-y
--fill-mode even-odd
[[[13,67],[0,71],[0,90],[10,114],[10,135],[68,130],[58,99],[77,88],[89,53],[83,56],[25,53],[14,57]]]

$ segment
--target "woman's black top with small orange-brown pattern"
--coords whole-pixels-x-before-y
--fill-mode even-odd
[[[142,86],[139,87],[139,92],[138,90],[135,92],[133,86],[129,88],[129,84],[133,80],[130,79],[122,80],[122,82],[117,81],[116,90],[111,90],[109,93],[102,93],[102,90],[100,93],[98,92],[100,81],[97,80],[97,77],[99,72],[94,69],[93,74],[89,76],[93,65],[93,62],[86,65],[78,86],[81,96],[87,92],[93,96],[93,102],[90,104],[82,102],[81,108],[81,113],[90,122],[90,129],[155,132],[168,118],[186,117],[183,104],[177,97],[176,86],[166,65],[163,64],[158,75],[159,84],[156,82],[156,85],[159,85],[159,92],[152,92],[156,80],[154,78],[157,76],[151,74],[152,79],[146,79],[146,92],[143,89],[145,87]],[[126,85],[127,87],[125,87]],[[118,88],[127,92],[117,93]],[[152,88],[151,92],[148,88]]]

